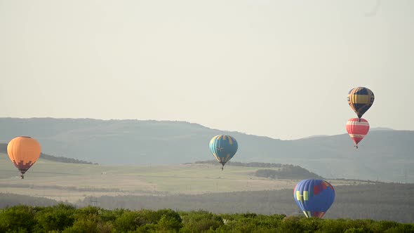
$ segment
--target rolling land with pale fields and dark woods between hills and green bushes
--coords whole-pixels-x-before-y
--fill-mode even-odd
[[[291,176],[280,178],[279,175],[286,175],[283,173],[286,168],[293,168],[289,173]],[[300,174],[302,177],[297,176]],[[201,208],[214,213],[288,215],[299,211],[293,201],[295,184],[316,174],[298,166],[257,162],[233,161],[221,171],[220,166],[211,161],[109,166],[40,158],[24,180],[18,175],[7,154],[0,152],[0,207],[17,204],[49,206],[64,201],[104,208],[187,211]],[[413,221],[413,208],[410,208],[413,184],[328,181],[335,187],[336,197],[326,218]]]

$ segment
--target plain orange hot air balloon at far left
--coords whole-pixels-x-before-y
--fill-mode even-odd
[[[39,159],[41,147],[39,142],[30,137],[21,136],[13,138],[7,145],[7,154],[16,168],[19,169],[20,178],[25,178],[25,173]]]

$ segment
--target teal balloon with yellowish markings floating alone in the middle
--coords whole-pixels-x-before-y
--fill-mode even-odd
[[[210,140],[210,150],[217,161],[222,165],[221,170],[237,152],[237,141],[229,135],[216,135]]]

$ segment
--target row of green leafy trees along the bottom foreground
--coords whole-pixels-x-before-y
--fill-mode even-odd
[[[0,210],[0,232],[414,232],[413,223],[392,221],[316,219],[283,214],[215,214],[208,211],[107,210],[13,206]]]

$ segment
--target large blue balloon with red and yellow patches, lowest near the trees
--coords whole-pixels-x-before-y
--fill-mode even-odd
[[[325,180],[301,180],[293,197],[307,218],[322,218],[335,200],[335,190]]]

